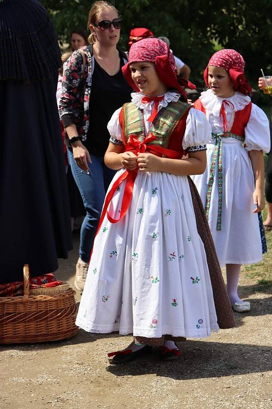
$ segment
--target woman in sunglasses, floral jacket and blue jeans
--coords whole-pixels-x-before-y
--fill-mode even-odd
[[[115,7],[95,2],[88,19],[90,45],[73,52],[63,76],[59,110],[71,170],[86,209],[75,278],[75,287],[81,291],[105,192],[115,173],[104,164],[110,139],[107,124],[113,112],[131,99],[131,88],[121,71],[127,56],[116,48],[121,21]]]

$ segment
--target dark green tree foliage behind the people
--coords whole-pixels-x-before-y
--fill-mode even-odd
[[[85,28],[91,3],[87,0],[41,0],[50,12],[61,41],[73,27]],[[220,48],[234,48],[246,62],[245,73],[256,84],[272,74],[272,0],[116,0],[123,25],[120,47],[127,50],[133,27],[146,27],[170,39],[174,54],[191,68],[192,81],[203,84],[202,73]]]

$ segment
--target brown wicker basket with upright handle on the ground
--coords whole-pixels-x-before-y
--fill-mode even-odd
[[[75,325],[75,291],[30,295],[29,266],[23,267],[23,296],[0,297],[0,344],[20,344],[67,339]]]

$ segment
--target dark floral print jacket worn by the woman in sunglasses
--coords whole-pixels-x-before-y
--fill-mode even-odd
[[[83,72],[83,53],[85,69]],[[122,53],[127,62],[127,56]],[[94,57],[92,45],[81,47],[72,53],[64,65],[62,93],[59,112],[64,127],[75,124],[79,135],[85,141],[89,128],[89,101],[91,93]]]

